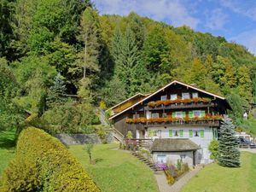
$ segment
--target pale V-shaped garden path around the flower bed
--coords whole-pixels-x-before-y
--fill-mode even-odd
[[[183,185],[188,183],[190,178],[194,177],[195,174],[201,170],[201,168],[202,166],[196,166],[195,169],[185,174],[172,185],[167,183],[166,175],[164,172],[155,172],[154,177],[160,192],[178,192],[182,189]]]

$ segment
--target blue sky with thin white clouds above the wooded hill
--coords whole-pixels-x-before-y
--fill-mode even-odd
[[[92,0],[101,15],[131,11],[242,44],[256,55],[256,0]]]

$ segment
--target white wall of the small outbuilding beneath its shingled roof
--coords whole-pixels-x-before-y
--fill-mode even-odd
[[[183,163],[188,163],[189,167],[193,167],[193,152],[186,151],[186,152],[154,152],[153,160],[154,163],[157,163],[157,155],[166,155],[166,163],[177,165],[177,160],[181,160],[181,155],[185,155],[183,158]]]

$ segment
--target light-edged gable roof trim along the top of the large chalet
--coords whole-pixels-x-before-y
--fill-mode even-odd
[[[109,119],[113,119],[113,118],[119,116],[121,113],[125,113],[126,111],[130,110],[131,108],[136,107],[139,103],[142,103],[142,102],[148,100],[148,98],[150,98],[151,96],[154,96],[154,95],[158,94],[158,93],[159,93],[160,91],[162,91],[162,90],[165,90],[167,87],[171,86],[172,84],[182,84],[183,86],[189,87],[189,88],[194,89],[194,90],[201,91],[201,92],[203,92],[203,93],[206,93],[207,95],[214,96],[214,97],[217,97],[217,98],[219,98],[219,99],[221,99],[221,100],[226,101],[226,99],[225,99],[223,96],[218,96],[218,95],[213,94],[213,93],[211,93],[211,92],[208,92],[208,91],[206,91],[206,90],[201,90],[201,89],[199,89],[199,88],[197,88],[197,87],[195,87],[195,86],[192,86],[192,85],[190,85],[190,84],[185,84],[185,83],[182,83],[182,82],[180,82],[180,81],[174,80],[174,81],[172,81],[170,84],[166,84],[166,86],[160,88],[159,90],[156,90],[154,93],[152,93],[152,94],[150,94],[149,96],[145,97],[143,100],[141,100],[141,101],[135,103],[135,104],[132,105],[131,107],[125,108],[125,110],[123,110],[123,111],[121,111],[121,112],[119,112],[119,113],[114,114],[114,115],[111,116]],[[226,102],[227,102],[227,101],[226,101]],[[229,102],[227,102],[227,104],[228,104],[228,106],[230,107]],[[230,108],[231,108],[231,107],[230,107]]]

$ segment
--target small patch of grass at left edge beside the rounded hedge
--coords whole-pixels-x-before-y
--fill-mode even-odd
[[[15,131],[0,131],[0,178],[15,156]]]

